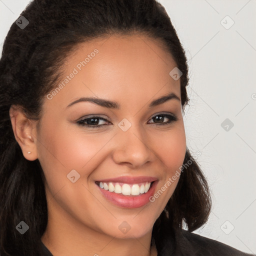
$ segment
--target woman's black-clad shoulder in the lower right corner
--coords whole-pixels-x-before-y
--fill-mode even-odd
[[[252,256],[227,244],[182,229],[180,233],[182,250],[196,252],[198,256]]]

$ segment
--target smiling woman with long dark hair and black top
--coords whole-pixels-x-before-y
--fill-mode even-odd
[[[0,255],[249,255],[191,233],[187,70],[155,0],[33,0],[0,60]]]

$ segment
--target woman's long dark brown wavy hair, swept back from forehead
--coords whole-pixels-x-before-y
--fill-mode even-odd
[[[188,67],[184,49],[164,7],[156,0],[33,0],[21,12],[29,24],[13,22],[0,59],[0,255],[41,255],[47,224],[44,174],[38,159],[24,158],[12,130],[10,106],[40,120],[43,98],[56,85],[61,65],[78,43],[111,34],[146,34],[164,45],[181,70],[182,110],[188,103]],[[188,231],[208,219],[211,199],[207,181],[186,148],[177,186],[155,221],[151,244],[157,251],[172,230]],[[29,226],[21,235],[15,226]],[[181,231],[180,231],[181,232]],[[174,233],[172,233],[174,237]],[[173,238],[174,239],[174,238]],[[178,241],[176,245],[179,246]]]

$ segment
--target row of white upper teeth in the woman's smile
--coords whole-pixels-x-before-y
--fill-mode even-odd
[[[149,190],[151,182],[144,182],[139,184],[126,184],[115,182],[99,182],[99,187],[105,190],[109,190],[114,193],[122,193],[124,195],[139,195],[146,193]]]

